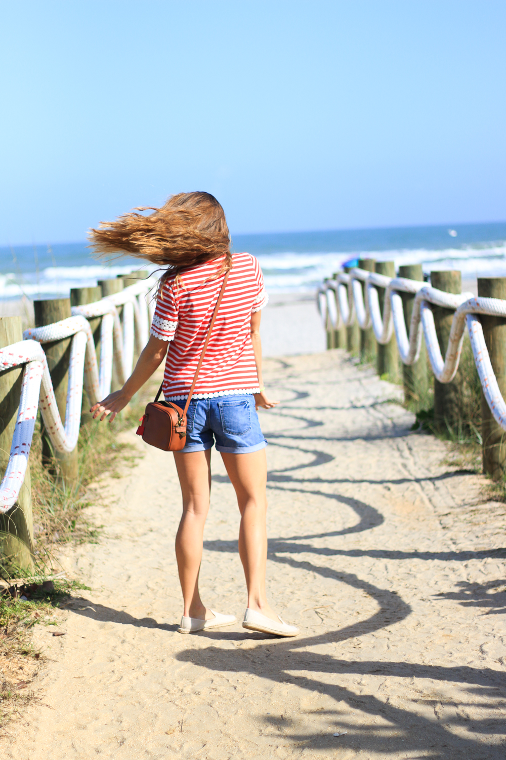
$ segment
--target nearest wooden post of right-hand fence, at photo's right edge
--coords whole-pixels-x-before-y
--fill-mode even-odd
[[[478,295],[506,300],[506,277],[479,277]],[[480,317],[486,347],[502,397],[506,397],[506,318]],[[506,434],[495,422],[482,392],[482,457],[483,472],[494,480],[506,473]]]

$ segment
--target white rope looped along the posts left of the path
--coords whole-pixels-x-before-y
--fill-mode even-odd
[[[0,512],[8,511],[19,496],[27,471],[37,409],[56,451],[74,451],[79,436],[83,385],[90,406],[111,392],[112,369],[124,384],[134,366],[134,350],[140,353],[149,339],[156,280],[139,280],[119,293],[86,306],[74,306],[72,316],[53,325],[31,328],[20,343],[0,349],[0,371],[24,366],[16,427],[5,475],[0,484]],[[118,315],[123,306],[123,325]],[[87,319],[102,317],[100,369]],[[42,345],[71,337],[67,409],[62,423]]]

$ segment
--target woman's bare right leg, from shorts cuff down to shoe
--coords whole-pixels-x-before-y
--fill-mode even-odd
[[[222,452],[222,459],[240,510],[239,556],[246,577],[248,607],[277,621],[278,616],[266,597],[266,450],[250,454]]]

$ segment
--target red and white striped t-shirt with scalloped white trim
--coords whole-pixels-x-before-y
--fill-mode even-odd
[[[165,362],[165,398],[186,398],[193,382],[225,274],[216,278],[223,258],[184,270],[178,281],[168,277],[156,303],[151,334],[171,340]],[[227,287],[193,398],[259,392],[250,337],[253,312],[266,306],[262,270],[249,253],[234,253]],[[213,279],[214,278],[214,279]]]

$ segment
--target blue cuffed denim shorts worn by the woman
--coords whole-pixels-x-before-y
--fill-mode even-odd
[[[186,399],[174,401],[174,404],[184,409]],[[266,447],[252,394],[190,401],[186,444],[181,451],[183,454],[206,451],[213,443],[216,451],[228,454],[249,454]]]

